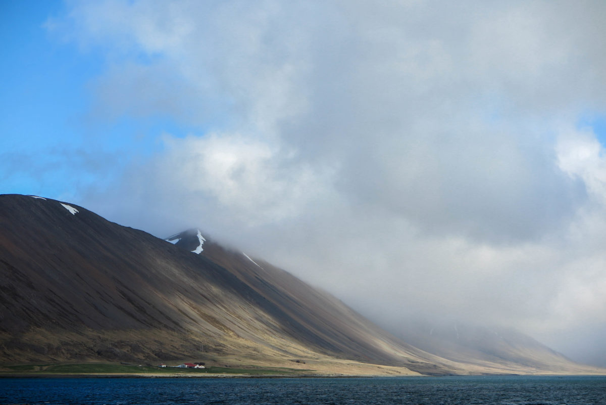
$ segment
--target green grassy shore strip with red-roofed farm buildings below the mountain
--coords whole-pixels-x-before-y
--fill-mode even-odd
[[[244,374],[244,375],[295,375],[301,370],[285,368],[232,369],[228,367],[207,367],[205,369],[181,369],[176,367],[136,366],[118,363],[79,364],[17,364],[2,365],[0,375],[53,375],[53,374]]]

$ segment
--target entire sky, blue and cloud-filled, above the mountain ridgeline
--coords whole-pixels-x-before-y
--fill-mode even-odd
[[[0,192],[606,365],[606,3],[0,7]]]

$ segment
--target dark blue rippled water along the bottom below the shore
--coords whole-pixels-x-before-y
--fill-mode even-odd
[[[0,404],[605,405],[606,377],[1,378]]]

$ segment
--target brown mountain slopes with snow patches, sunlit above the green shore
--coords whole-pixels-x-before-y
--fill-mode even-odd
[[[321,374],[588,372],[418,349],[327,292],[194,229],[167,240],[0,195],[0,362],[170,361]]]

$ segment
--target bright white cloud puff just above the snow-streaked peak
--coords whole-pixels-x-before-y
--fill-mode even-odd
[[[156,163],[178,189],[205,195],[216,210],[245,226],[299,215],[322,196],[323,179],[305,165],[293,167],[288,153],[241,135],[167,138],[168,152]],[[288,170],[281,171],[281,166]],[[313,192],[310,192],[313,190]]]

